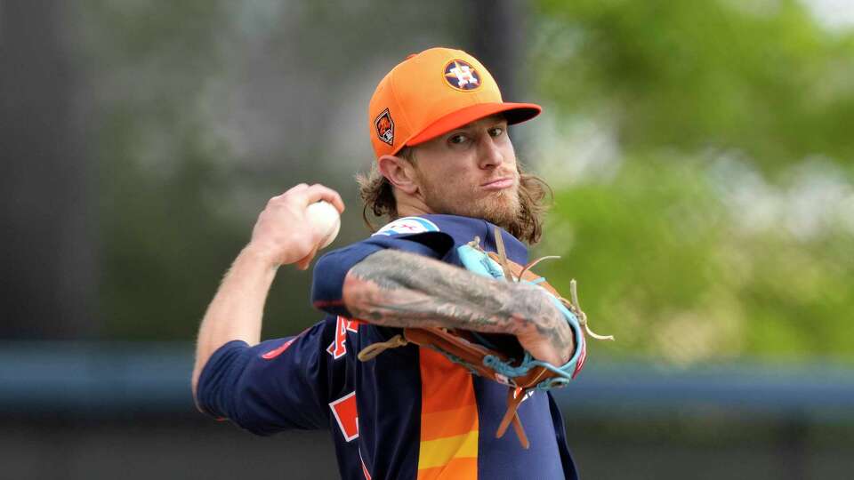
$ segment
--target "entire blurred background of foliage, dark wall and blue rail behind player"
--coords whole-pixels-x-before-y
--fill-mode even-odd
[[[4,478],[334,478],[325,432],[197,413],[198,322],[270,196],[342,193],[408,53],[473,53],[554,188],[593,342],[588,479],[854,472],[854,2],[0,1]],[[321,317],[280,270],[264,336]]]

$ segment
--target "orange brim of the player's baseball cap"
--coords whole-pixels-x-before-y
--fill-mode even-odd
[[[495,114],[504,114],[507,124],[520,124],[540,115],[543,108],[535,103],[479,103],[471,107],[461,108],[439,118],[422,132],[407,140],[404,145],[414,147],[419,143],[433,140],[439,135],[450,132],[464,124]]]

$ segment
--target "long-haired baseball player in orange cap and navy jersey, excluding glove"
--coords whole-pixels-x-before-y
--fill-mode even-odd
[[[321,322],[259,343],[276,268],[305,268],[318,243],[296,227],[302,211],[321,198],[343,208],[317,185],[270,200],[205,314],[198,407],[261,435],[326,428],[342,478],[576,478],[548,392],[532,390],[519,406],[525,449],[517,434],[495,436],[507,387],[430,348],[394,343],[407,327],[505,334],[538,360],[580,369],[583,337],[548,294],[460,268],[459,248],[472,239],[527,262],[521,241],[540,236],[543,186],[517,164],[507,125],[540,111],[504,102],[466,52],[432,48],[393,68],[370,101],[376,158],[359,179],[366,212],[390,222],[318,260],[311,297],[326,312]],[[387,349],[359,359],[376,346]]]

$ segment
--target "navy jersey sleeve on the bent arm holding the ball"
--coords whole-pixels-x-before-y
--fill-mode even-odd
[[[328,426],[324,322],[296,337],[250,347],[234,340],[214,352],[197,385],[197,406],[258,434]],[[327,341],[328,342],[328,341]]]

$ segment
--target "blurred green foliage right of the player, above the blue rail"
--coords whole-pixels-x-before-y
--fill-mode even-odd
[[[564,255],[544,273],[578,278],[593,330],[616,335],[592,348],[854,361],[850,30],[794,1],[538,4],[552,135],[592,123],[611,144],[574,169],[590,139],[543,152],[538,252]]]

